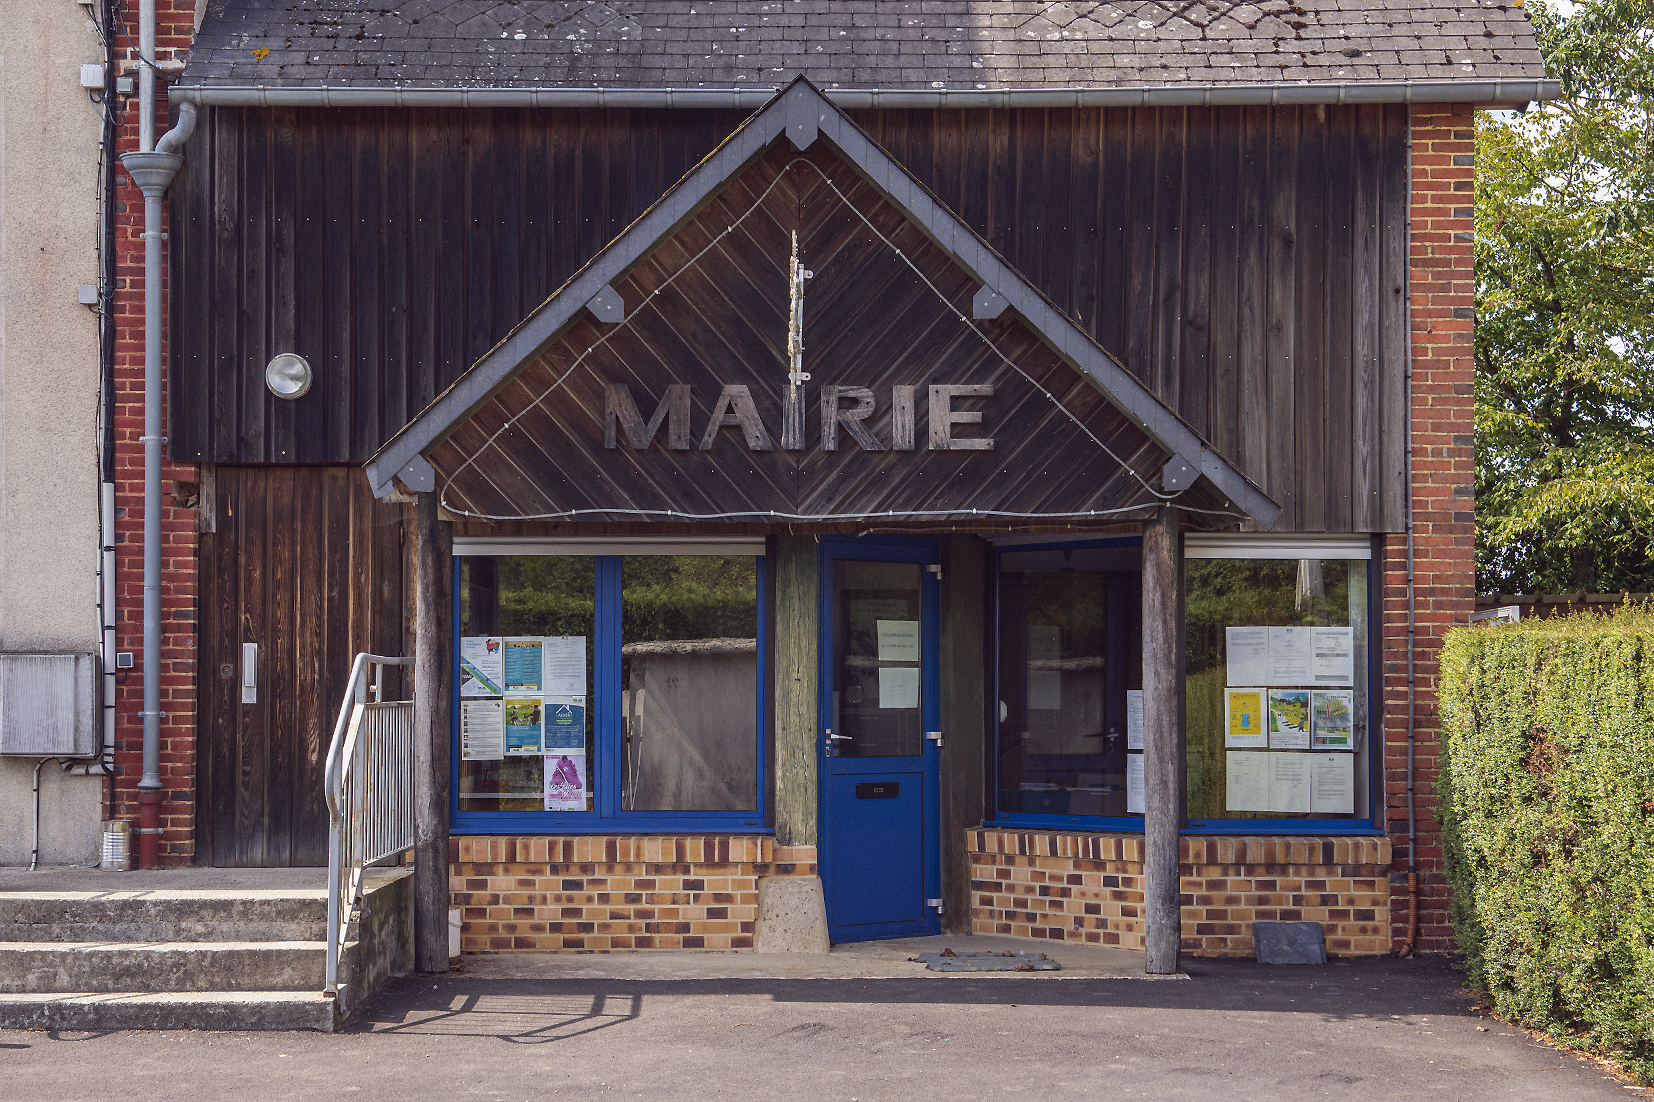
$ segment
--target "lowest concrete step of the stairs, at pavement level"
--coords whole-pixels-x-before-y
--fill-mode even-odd
[[[0,1029],[318,1029],[337,1008],[321,991],[63,991],[0,994]]]

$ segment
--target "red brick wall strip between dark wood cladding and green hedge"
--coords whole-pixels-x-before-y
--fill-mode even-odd
[[[1419,935],[1452,948],[1441,831],[1436,826],[1436,677],[1442,632],[1475,609],[1472,204],[1475,146],[1469,104],[1413,108],[1413,508],[1417,632],[1414,779]],[[1384,799],[1391,864],[1391,941],[1408,932],[1408,541],[1384,539]]]

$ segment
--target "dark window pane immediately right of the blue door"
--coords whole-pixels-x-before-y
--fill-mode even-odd
[[[1141,814],[1141,589],[1136,546],[999,556],[1001,812]]]

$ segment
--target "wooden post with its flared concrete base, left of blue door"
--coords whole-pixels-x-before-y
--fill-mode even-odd
[[[776,539],[776,854],[758,880],[759,953],[825,953],[827,903],[815,865],[815,536]]]

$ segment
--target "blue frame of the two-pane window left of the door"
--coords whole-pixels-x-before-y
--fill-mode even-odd
[[[615,544],[609,544],[615,548]],[[490,548],[493,549],[493,548]],[[544,554],[544,553],[539,553]],[[562,553],[557,553],[562,554]],[[766,768],[766,700],[769,692],[769,655],[767,655],[767,561],[762,554],[758,556],[723,556],[728,559],[748,558],[753,563],[754,576],[754,604],[756,604],[756,622],[753,624],[754,640],[744,649],[756,649],[756,685],[753,687],[753,743],[751,743],[751,807],[741,809],[723,809],[723,811],[695,811],[695,809],[627,809],[625,803],[629,799],[627,786],[624,784],[627,774],[627,764],[633,764],[632,778],[637,779],[635,763],[629,763],[629,733],[635,733],[633,725],[629,731],[629,712],[627,702],[622,700],[627,685],[624,683],[624,668],[627,660],[637,670],[640,662],[638,654],[632,647],[625,647],[627,640],[624,635],[624,574],[625,561],[633,558],[630,554],[595,554],[586,556],[592,563],[592,582],[590,582],[590,634],[589,655],[590,655],[590,720],[589,720],[589,769],[587,769],[587,788],[589,788],[589,811],[481,811],[475,806],[475,798],[461,793],[461,759],[460,759],[460,644],[465,630],[463,611],[461,611],[461,586],[465,584],[466,561],[476,561],[481,558],[491,558],[496,563],[504,558],[529,558],[536,556],[534,551],[524,549],[518,553],[514,549],[503,549],[498,556],[480,556],[466,553],[457,548],[455,554],[455,573],[453,573],[453,675],[450,678],[452,692],[452,776],[455,783],[452,784],[450,799],[450,831],[455,834],[605,834],[624,831],[630,834],[675,834],[675,832],[731,832],[731,834],[756,834],[767,832],[767,796],[769,784],[767,768]],[[670,544],[648,544],[640,548],[637,558],[701,558],[711,559],[715,556],[708,553],[700,553],[696,556],[678,556]],[[500,634],[491,630],[478,632],[478,635]],[[572,634],[572,632],[571,632]],[[705,644],[744,644],[744,640],[734,639],[718,639],[718,640],[696,640]],[[627,655],[622,654],[624,647]],[[683,647],[675,647],[681,652]],[[726,647],[728,652],[728,647]],[[681,657],[681,655],[680,655]],[[690,687],[691,695],[696,687]],[[635,707],[637,697],[632,697]],[[693,708],[695,700],[690,700]],[[744,740],[743,740],[744,745]],[[470,764],[470,763],[466,763]],[[746,773],[746,758],[741,759],[743,773]],[[633,786],[633,793],[635,793]],[[466,806],[461,809],[461,796],[466,796]],[[632,794],[630,799],[635,803],[637,796]],[[519,801],[521,803],[521,801]],[[665,799],[663,803],[672,803]],[[744,798],[739,803],[748,803]]]

